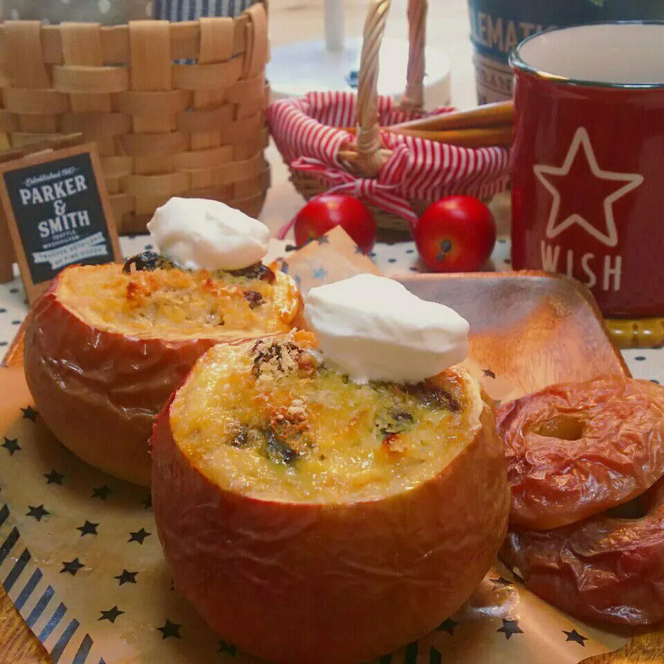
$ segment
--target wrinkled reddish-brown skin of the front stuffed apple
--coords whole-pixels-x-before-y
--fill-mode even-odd
[[[169,409],[152,438],[158,535],[176,589],[244,652],[278,664],[373,661],[435,629],[495,560],[510,495],[487,403],[436,477],[347,504],[217,486],[174,441]]]

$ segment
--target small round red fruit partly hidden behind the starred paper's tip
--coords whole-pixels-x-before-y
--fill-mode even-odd
[[[302,246],[340,225],[363,253],[376,242],[376,221],[369,208],[353,196],[323,194],[295,215],[295,243]]]

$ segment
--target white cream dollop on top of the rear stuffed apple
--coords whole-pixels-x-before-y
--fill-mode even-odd
[[[270,231],[219,201],[170,199],[147,224],[161,255],[185,270],[239,270],[268,252]]]

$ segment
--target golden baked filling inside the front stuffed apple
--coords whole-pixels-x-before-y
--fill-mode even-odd
[[[327,368],[309,337],[216,346],[197,362],[170,425],[205,477],[261,499],[385,497],[434,477],[479,426],[458,369],[359,385]]]

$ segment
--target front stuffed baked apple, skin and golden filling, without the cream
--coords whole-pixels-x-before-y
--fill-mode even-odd
[[[458,365],[418,382],[349,377],[311,332],[210,349],[160,414],[152,459],[176,589],[268,661],[357,664],[423,636],[506,533],[479,383]]]

